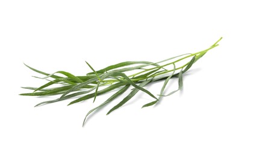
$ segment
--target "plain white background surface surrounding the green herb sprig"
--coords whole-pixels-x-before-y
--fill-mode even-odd
[[[0,1],[0,155],[256,155],[255,14],[245,0]],[[145,109],[152,98],[139,92],[106,116],[120,97],[84,128],[86,113],[111,94],[37,108],[49,98],[18,95],[44,83],[23,62],[83,75],[84,61],[95,69],[161,61],[220,37],[184,76],[183,92]]]

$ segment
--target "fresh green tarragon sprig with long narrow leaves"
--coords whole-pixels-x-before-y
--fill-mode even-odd
[[[50,101],[43,101],[42,103],[37,104],[37,106],[42,106],[44,104],[55,103],[57,101],[67,100],[69,98],[77,97],[75,100],[71,101],[69,105],[79,103],[84,100],[93,98],[93,102],[96,100],[96,97],[107,92],[117,90],[110,98],[108,98],[104,103],[90,110],[83,121],[83,126],[86,122],[87,116],[89,116],[95,110],[104,107],[119,95],[123,94],[133,86],[130,93],[123,98],[116,106],[110,109],[107,112],[107,115],[123,106],[127,101],[129,101],[137,92],[142,91],[148,94],[152,99],[152,102],[144,104],[143,107],[153,106],[157,104],[161,97],[169,96],[179,91],[183,88],[183,74],[189,70],[192,65],[198,61],[208,50],[213,49],[218,46],[217,44],[222,38],[216,41],[208,49],[202,50],[201,52],[196,53],[187,53],[180,56],[175,56],[173,58],[165,59],[160,62],[148,62],[148,61],[126,61],[119,64],[110,65],[101,70],[94,70],[93,67],[86,62],[90,67],[92,72],[88,73],[86,76],[74,76],[71,73],[66,71],[57,71],[52,74],[45,73],[43,71],[36,70],[28,65],[33,71],[43,74],[46,77],[37,77],[40,79],[52,78],[53,80],[48,80],[48,83],[40,86],[39,88],[33,87],[23,87],[25,89],[34,90],[31,93],[24,93],[20,95],[27,96],[50,96],[50,95],[60,95],[59,98]],[[56,74],[62,74],[63,76],[57,76]],[[164,89],[166,88],[167,83],[172,77],[178,77],[178,89],[170,92],[169,94],[164,94]],[[155,97],[151,92],[149,92],[144,87],[149,83],[164,80],[163,86],[161,88],[160,94],[158,97]],[[49,86],[55,86],[49,88]]]

